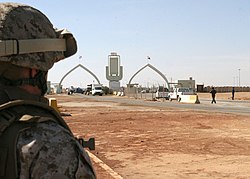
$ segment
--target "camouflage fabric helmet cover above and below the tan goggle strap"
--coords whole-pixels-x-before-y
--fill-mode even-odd
[[[0,40],[57,38],[49,19],[39,10],[18,3],[0,3]],[[17,66],[48,71],[64,59],[64,52],[36,52],[0,57],[0,61]]]

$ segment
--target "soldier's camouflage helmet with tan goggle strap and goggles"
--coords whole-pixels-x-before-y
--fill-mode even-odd
[[[54,47],[58,39],[64,40],[65,49]],[[7,53],[7,47],[13,47],[15,50],[11,51],[15,52]],[[0,3],[0,61],[48,71],[55,62],[76,51],[73,35],[65,30],[56,31],[39,10],[18,3]]]

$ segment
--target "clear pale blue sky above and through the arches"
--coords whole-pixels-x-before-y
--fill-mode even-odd
[[[169,81],[193,77],[205,86],[228,86],[239,85],[240,79],[240,85],[250,86],[249,0],[16,2],[39,9],[55,27],[67,28],[77,39],[77,54],[54,65],[51,82],[58,83],[80,63],[108,86],[105,66],[110,52],[117,52],[124,68],[123,85],[150,63]],[[85,87],[93,80],[79,68],[65,78],[63,86]],[[151,69],[139,73],[133,82],[164,83]]]

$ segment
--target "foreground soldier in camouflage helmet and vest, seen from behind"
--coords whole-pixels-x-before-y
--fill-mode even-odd
[[[0,179],[95,178],[88,154],[48,105],[47,72],[76,41],[33,7],[0,3]]]

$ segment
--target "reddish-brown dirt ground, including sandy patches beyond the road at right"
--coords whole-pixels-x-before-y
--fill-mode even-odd
[[[248,99],[248,94],[236,99]],[[120,178],[250,178],[249,116],[48,97],[71,114],[64,119],[74,134],[95,137],[96,150],[90,152]],[[93,165],[99,179],[115,178]]]

